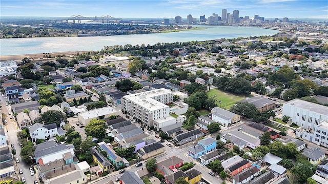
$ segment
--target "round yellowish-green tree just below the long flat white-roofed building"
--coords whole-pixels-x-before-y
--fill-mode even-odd
[[[104,120],[92,119],[86,126],[85,131],[87,136],[96,138],[104,138],[106,135],[106,122]]]

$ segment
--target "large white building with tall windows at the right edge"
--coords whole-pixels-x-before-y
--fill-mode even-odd
[[[301,99],[293,99],[283,105],[282,116],[289,116],[290,121],[299,127],[314,129],[321,121],[328,121],[328,107]]]

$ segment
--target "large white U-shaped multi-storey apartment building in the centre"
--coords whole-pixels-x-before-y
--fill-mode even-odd
[[[157,119],[160,119],[161,123],[165,123],[163,121],[170,116],[170,107],[166,104],[171,103],[173,103],[173,94],[164,88],[130,94],[121,98],[122,110],[150,127],[154,126],[154,121]]]

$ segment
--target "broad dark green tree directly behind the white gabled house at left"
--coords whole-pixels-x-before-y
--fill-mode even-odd
[[[44,122],[45,125],[55,123],[57,127],[60,126],[61,121],[67,122],[67,117],[60,111],[50,110],[43,113],[39,119],[39,122]]]

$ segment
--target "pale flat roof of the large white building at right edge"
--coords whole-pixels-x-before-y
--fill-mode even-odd
[[[292,99],[290,101],[288,101],[287,103],[285,104],[288,104],[290,106],[295,106],[297,108],[300,108],[300,109],[305,109],[305,110],[308,110],[308,111],[313,111],[313,112],[316,112],[316,113],[320,113],[320,114],[323,114],[323,115],[327,115],[327,112],[328,112],[328,107],[327,106],[323,106],[323,105],[320,105],[320,104],[315,104],[315,103],[312,103],[310,101],[305,101],[305,100],[301,100],[301,99]]]

